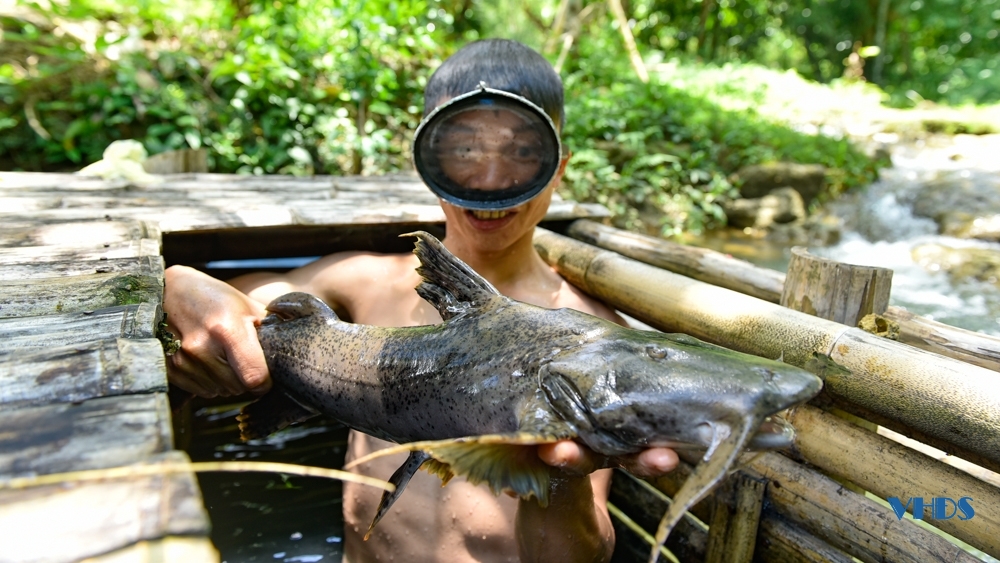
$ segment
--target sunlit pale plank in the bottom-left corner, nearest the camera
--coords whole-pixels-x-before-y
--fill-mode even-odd
[[[157,459],[177,463],[187,456],[170,452]],[[190,473],[0,490],[3,563],[78,561],[144,540],[204,536],[208,527]]]

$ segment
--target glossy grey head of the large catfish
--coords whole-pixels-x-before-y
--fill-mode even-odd
[[[684,334],[617,327],[559,352],[539,375],[553,409],[606,455],[658,446],[712,450],[748,425],[750,449],[788,446],[794,430],[771,415],[822,387],[788,364]]]

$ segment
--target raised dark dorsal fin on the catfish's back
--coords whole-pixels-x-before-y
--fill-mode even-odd
[[[456,258],[430,233],[417,231],[400,236],[417,237],[413,253],[420,260],[417,273],[423,278],[417,293],[448,320],[469,309],[482,307],[500,292],[465,262]]]

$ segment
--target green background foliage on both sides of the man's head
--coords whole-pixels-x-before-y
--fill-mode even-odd
[[[205,147],[217,172],[405,170],[423,87],[447,55],[491,30],[547,46],[553,61],[566,44],[550,28],[561,5],[554,0],[120,4],[22,2],[19,17],[0,18],[0,168],[79,169],[132,138],[151,154]],[[633,1],[649,84],[635,79],[603,2],[569,5],[564,30],[576,38],[562,70],[573,151],[565,194],[607,205],[620,225],[675,234],[724,222],[719,204],[735,196],[731,175],[747,164],[822,163],[833,192],[874,177],[873,163],[843,139],[713,98],[731,94],[749,106],[764,100],[764,88],[673,87],[657,70],[668,53],[757,53],[795,66],[807,50],[786,29],[787,5],[712,0],[718,10],[702,21],[705,4]],[[823,64],[827,74],[837,70]]]

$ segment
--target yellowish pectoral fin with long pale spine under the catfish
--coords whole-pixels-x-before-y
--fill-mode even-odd
[[[539,459],[534,446],[559,440],[558,437],[522,432],[413,442],[373,452],[352,461],[345,469],[402,451],[422,450],[436,461],[428,464],[428,470],[438,475],[445,471],[449,475],[461,475],[474,485],[487,483],[494,494],[510,489],[521,498],[535,497],[538,504],[547,506],[549,466]]]

